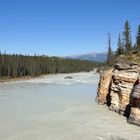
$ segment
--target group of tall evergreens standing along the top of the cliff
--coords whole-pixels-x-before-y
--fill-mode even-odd
[[[113,60],[121,54],[133,54],[140,52],[140,25],[137,28],[136,40],[132,43],[131,28],[128,21],[125,22],[124,31],[118,35],[117,50],[112,51],[111,37],[108,38],[107,64],[111,65]]]

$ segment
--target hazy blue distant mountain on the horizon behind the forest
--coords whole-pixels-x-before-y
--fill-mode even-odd
[[[65,58],[104,62],[107,59],[107,54],[105,52],[104,53],[88,53],[88,54],[81,54],[81,55],[71,55]]]

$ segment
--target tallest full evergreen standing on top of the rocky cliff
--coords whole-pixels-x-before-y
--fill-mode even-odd
[[[129,53],[132,51],[132,41],[131,41],[131,30],[128,21],[125,22],[123,37],[124,37],[125,52]]]

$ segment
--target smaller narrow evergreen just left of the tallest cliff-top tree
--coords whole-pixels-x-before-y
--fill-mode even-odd
[[[118,46],[118,48],[117,48],[117,51],[116,51],[116,56],[124,53],[124,48],[123,48],[123,43],[122,43],[122,39],[121,39],[121,34],[119,34],[117,46]]]

